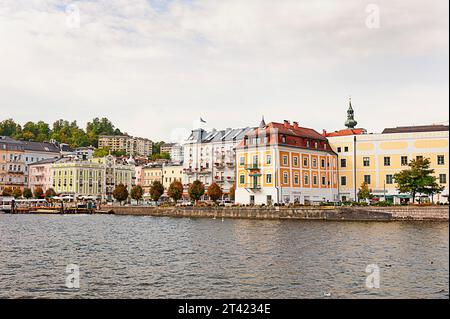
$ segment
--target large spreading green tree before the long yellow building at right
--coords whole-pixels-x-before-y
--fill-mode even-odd
[[[413,203],[417,194],[433,196],[444,190],[444,187],[436,182],[436,177],[433,176],[434,169],[430,168],[430,164],[428,158],[418,158],[408,164],[408,169],[394,175],[398,191],[409,193],[413,198]]]

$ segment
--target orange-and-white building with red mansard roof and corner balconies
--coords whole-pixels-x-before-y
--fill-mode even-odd
[[[240,204],[301,203],[337,200],[337,155],[313,129],[261,122],[236,148]]]

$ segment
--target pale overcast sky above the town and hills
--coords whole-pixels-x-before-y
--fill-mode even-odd
[[[0,0],[0,120],[136,136],[448,121],[447,0]]]

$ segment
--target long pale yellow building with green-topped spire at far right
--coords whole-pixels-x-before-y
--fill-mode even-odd
[[[342,201],[355,200],[363,182],[377,197],[386,196],[396,202],[408,198],[407,194],[398,193],[393,176],[408,168],[408,163],[418,157],[430,159],[437,181],[445,186],[434,199],[448,201],[448,126],[397,127],[379,134],[367,134],[364,129],[354,128],[356,121],[351,122],[352,109],[350,113],[347,129],[324,132],[338,154],[339,198]]]

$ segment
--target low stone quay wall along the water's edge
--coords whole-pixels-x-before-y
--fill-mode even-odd
[[[111,206],[116,215],[341,221],[447,221],[448,207],[150,207]]]

